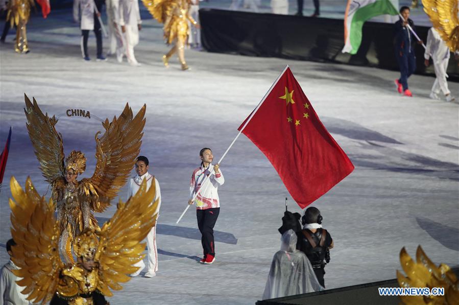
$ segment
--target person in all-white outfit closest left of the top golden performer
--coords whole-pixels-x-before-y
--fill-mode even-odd
[[[139,66],[134,56],[134,46],[139,43],[140,19],[139,3],[137,0],[119,2],[119,24],[124,34],[126,57],[130,65]]]

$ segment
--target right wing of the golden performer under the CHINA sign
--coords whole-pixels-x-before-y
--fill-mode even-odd
[[[90,179],[82,179],[80,194],[92,196],[91,208],[103,212],[126,184],[142,144],[145,110],[143,105],[133,116],[132,109],[126,104],[123,113],[108,119],[102,125],[105,133],[98,138],[95,135],[97,163]]]

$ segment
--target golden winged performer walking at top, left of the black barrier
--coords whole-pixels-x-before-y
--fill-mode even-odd
[[[169,59],[177,52],[182,70],[189,67],[185,61],[185,45],[188,41],[189,28],[188,20],[197,28],[198,22],[189,14],[189,0],[142,0],[143,5],[150,14],[164,24],[164,40],[167,44],[174,43],[171,51],[163,55],[162,60],[166,67],[169,66]]]

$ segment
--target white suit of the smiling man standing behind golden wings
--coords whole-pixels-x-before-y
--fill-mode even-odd
[[[157,209],[157,212],[159,213],[159,207],[161,206],[161,190],[159,189],[158,180],[154,176],[150,175],[148,172],[142,176],[137,175],[134,178],[131,178],[131,180],[129,181],[129,185],[128,185],[128,197],[131,197],[135,195],[135,193],[137,193],[137,191],[140,189],[140,184],[142,183],[143,179],[147,179],[148,189],[150,189],[150,186],[152,185],[153,180],[155,181],[156,194],[155,194],[154,201],[159,200],[158,209]],[[158,218],[156,218],[156,220],[158,220]],[[147,252],[148,252],[147,254],[147,257],[148,257],[147,272],[158,271],[158,250],[156,248],[156,225],[150,230],[150,232],[147,235]],[[134,264],[133,266],[142,267],[142,261]]]

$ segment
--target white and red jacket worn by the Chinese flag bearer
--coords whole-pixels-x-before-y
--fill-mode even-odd
[[[209,176],[210,169],[213,169],[212,163],[204,169],[202,166],[197,168],[191,175],[191,181],[189,185],[190,199],[193,199],[195,192],[198,192],[196,196],[195,204],[197,209],[208,209],[211,207],[220,207],[220,199],[218,188],[219,185],[225,183],[225,178],[223,178],[223,173],[219,170],[218,174],[213,173],[208,179],[210,182],[205,182],[204,189],[201,188],[202,181],[204,180],[203,172],[206,172],[206,175]]]

